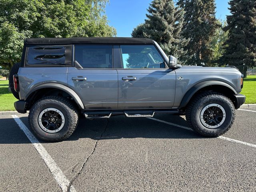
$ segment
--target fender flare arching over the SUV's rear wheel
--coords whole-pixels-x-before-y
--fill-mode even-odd
[[[32,94],[34,91],[42,89],[42,88],[56,88],[56,89],[62,90],[64,92],[66,92],[67,94],[69,94],[70,96],[72,96],[72,98],[75,100],[75,102],[79,106],[79,108],[84,109],[84,104],[83,104],[82,100],[80,99],[78,94],[76,94],[76,92],[74,92],[74,90],[72,90],[71,88],[69,88],[65,85],[57,84],[57,83],[46,83],[46,84],[36,86],[32,90],[30,90],[30,92],[28,92],[28,94],[26,94],[25,100],[27,100],[28,97],[30,96],[30,94]]]

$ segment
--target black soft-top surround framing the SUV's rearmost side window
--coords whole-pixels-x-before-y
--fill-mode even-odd
[[[30,47],[64,47],[65,48],[65,61],[63,65],[60,64],[27,64],[28,50]],[[71,67],[72,66],[72,45],[45,45],[45,44],[29,44],[26,46],[26,52],[24,55],[24,67]]]

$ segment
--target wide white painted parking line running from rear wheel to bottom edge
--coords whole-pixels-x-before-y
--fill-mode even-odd
[[[34,148],[40,154],[41,158],[44,160],[46,166],[49,168],[50,172],[54,176],[56,182],[60,186],[63,192],[68,191],[68,186],[70,181],[63,174],[62,170],[58,167],[56,162],[52,159],[52,157],[48,154],[46,149],[42,146],[42,144],[35,138],[35,136],[28,130],[26,125],[18,118],[17,115],[12,115],[12,118],[16,121],[20,129],[26,134],[30,142],[33,144]],[[70,192],[76,192],[74,186],[71,185]]]

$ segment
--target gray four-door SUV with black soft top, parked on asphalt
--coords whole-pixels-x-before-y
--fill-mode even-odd
[[[31,130],[46,141],[68,138],[80,114],[186,115],[196,132],[215,137],[245,102],[236,68],[180,66],[146,38],[27,38],[11,76],[16,110],[29,110]]]

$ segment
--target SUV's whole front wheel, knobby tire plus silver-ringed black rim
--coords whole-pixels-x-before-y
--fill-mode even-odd
[[[235,116],[232,101],[216,92],[199,94],[186,110],[186,120],[190,127],[206,137],[217,137],[227,132]]]

